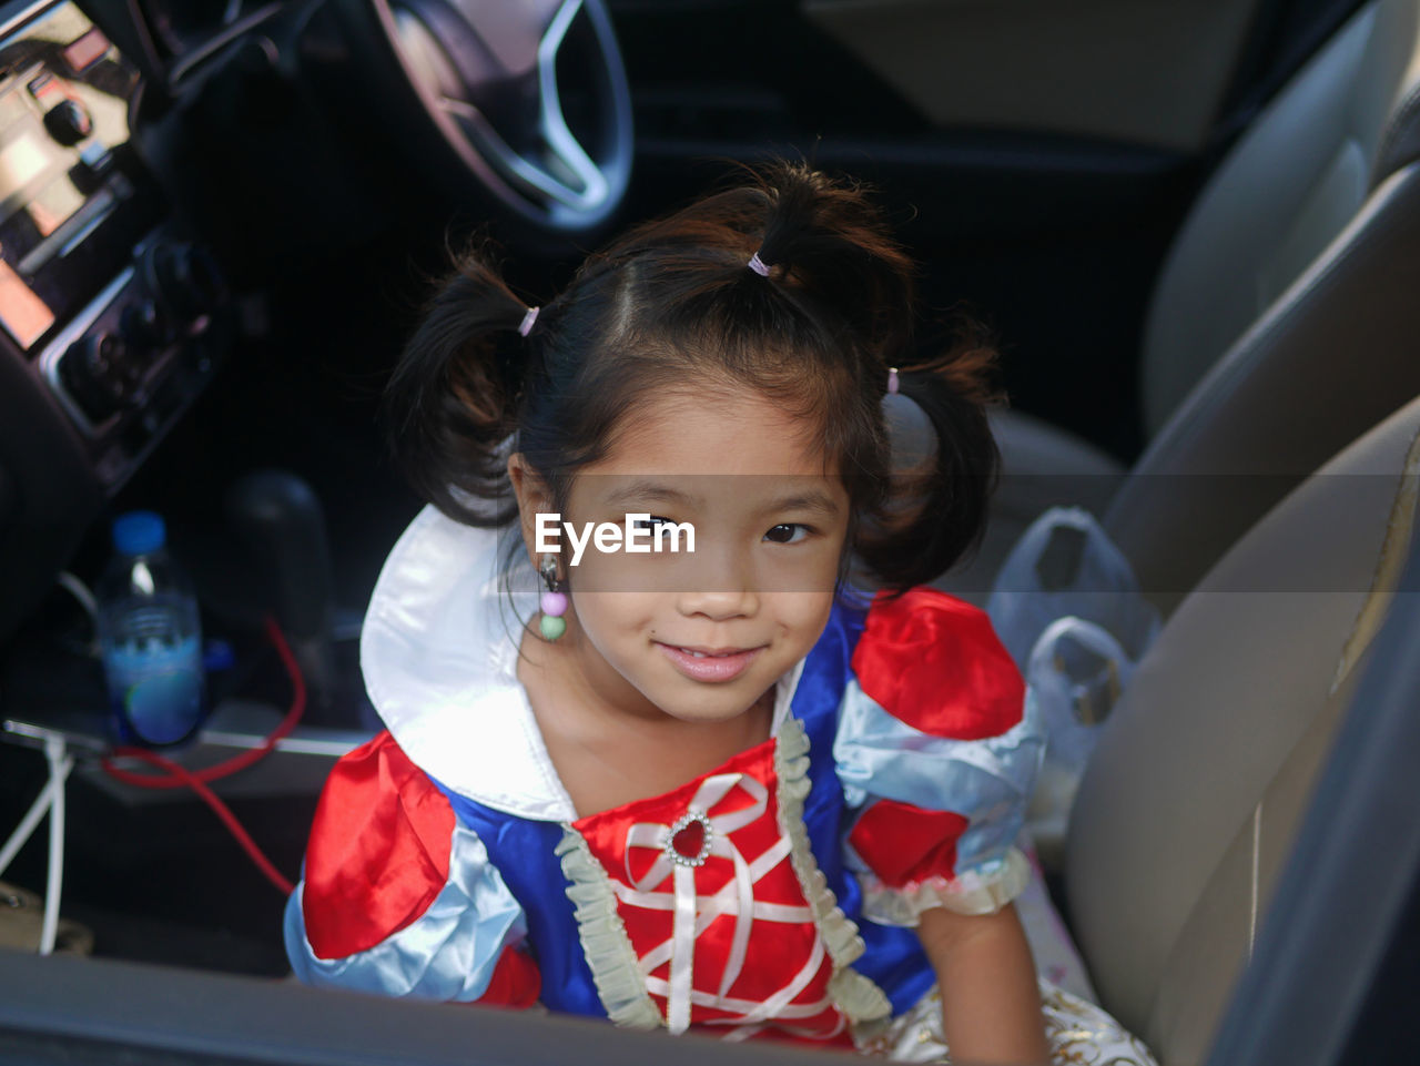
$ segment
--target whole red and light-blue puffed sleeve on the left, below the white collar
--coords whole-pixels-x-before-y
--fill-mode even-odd
[[[389,734],[337,762],[285,908],[301,981],[530,1006],[541,978],[525,937],[483,842]]]

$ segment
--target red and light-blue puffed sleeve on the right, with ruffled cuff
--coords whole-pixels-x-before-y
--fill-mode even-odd
[[[879,595],[852,669],[834,758],[863,916],[1000,910],[1030,879],[1015,837],[1044,732],[990,619],[934,589]]]

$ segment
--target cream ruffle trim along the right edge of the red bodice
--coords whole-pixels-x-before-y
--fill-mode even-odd
[[[892,1002],[876,984],[851,968],[863,954],[863,938],[852,918],[839,908],[838,897],[828,887],[828,879],[818,869],[809,846],[808,829],[804,826],[804,799],[812,785],[808,779],[808,747],[802,722],[791,715],[780,727],[778,742],[774,745],[774,772],[780,781],[780,830],[788,837],[790,863],[834,964],[828,994],[852,1023],[855,1033],[861,1035],[872,1023],[892,1016]]]

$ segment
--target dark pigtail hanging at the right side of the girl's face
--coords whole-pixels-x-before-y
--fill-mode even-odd
[[[1001,463],[987,420],[1001,402],[995,358],[987,331],[961,319],[946,353],[899,373],[899,392],[927,416],[936,450],[893,476],[876,521],[858,538],[859,558],[890,589],[940,576],[981,542]]]

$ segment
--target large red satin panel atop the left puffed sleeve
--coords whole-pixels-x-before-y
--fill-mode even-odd
[[[301,894],[317,958],[368,951],[412,924],[449,877],[453,808],[388,732],[331,771]]]

